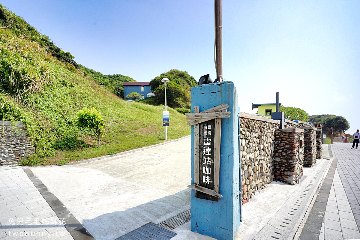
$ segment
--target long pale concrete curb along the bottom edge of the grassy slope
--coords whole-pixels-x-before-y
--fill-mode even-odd
[[[102,157],[90,158],[90,159],[86,159],[86,160],[80,160],[80,161],[76,161],[76,162],[66,163],[66,164],[64,164],[64,165],[81,164],[81,163],[88,163],[88,162],[92,162],[92,161],[96,161],[96,160],[103,160],[103,159],[107,159],[107,158],[113,158],[113,157],[120,156],[120,155],[124,155],[124,154],[127,154],[127,153],[133,153],[133,152],[141,151],[141,150],[148,149],[148,148],[155,148],[155,147],[157,147],[157,146],[165,145],[165,144],[168,144],[168,143],[170,143],[170,142],[180,141],[180,140],[186,139],[186,138],[188,138],[188,137],[190,137],[190,136],[191,136],[191,135],[188,135],[188,136],[180,137],[180,138],[178,138],[178,139],[170,140],[170,141],[167,141],[167,142],[161,142],[161,143],[158,143],[158,144],[146,146],[146,147],[143,147],[143,148],[132,149],[132,150],[129,150],[129,151],[124,151],[124,152],[117,153],[117,154],[113,154],[113,155],[106,155],[106,156],[102,156]],[[47,165],[47,166],[36,166],[36,167],[53,167],[53,166],[59,166],[59,164]],[[0,171],[1,171],[1,170],[6,170],[6,169],[22,168],[22,167],[23,167],[23,166],[3,167],[3,168],[0,168]],[[28,168],[29,166],[24,166],[24,167],[27,167],[27,168]],[[30,167],[31,167],[31,166],[30,166]],[[31,167],[31,168],[33,168],[33,167]]]

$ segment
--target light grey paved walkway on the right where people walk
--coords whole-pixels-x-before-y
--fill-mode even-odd
[[[330,194],[323,201],[325,214],[317,213],[319,218],[324,214],[321,230],[314,228],[309,240],[360,239],[360,150],[341,142],[323,144],[323,149],[323,158],[325,152],[329,153],[336,168],[332,181],[328,182]],[[306,224],[311,225],[311,221],[308,218]]]

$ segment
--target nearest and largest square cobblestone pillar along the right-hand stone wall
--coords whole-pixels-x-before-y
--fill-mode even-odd
[[[275,131],[274,180],[296,184],[303,175],[303,135],[301,128]]]

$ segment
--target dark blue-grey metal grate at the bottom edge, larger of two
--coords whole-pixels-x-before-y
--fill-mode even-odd
[[[149,222],[115,240],[169,240],[176,235],[155,223]]]

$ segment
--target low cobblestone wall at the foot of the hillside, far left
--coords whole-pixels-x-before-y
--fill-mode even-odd
[[[25,124],[19,121],[0,121],[0,142],[0,165],[20,164],[35,151]]]

